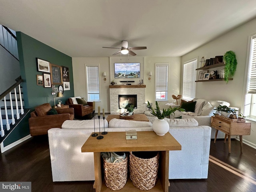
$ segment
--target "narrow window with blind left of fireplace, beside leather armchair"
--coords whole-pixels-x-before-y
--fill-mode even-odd
[[[100,101],[99,66],[86,65],[87,100]]]

